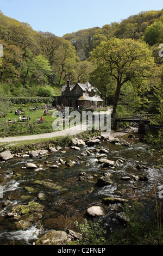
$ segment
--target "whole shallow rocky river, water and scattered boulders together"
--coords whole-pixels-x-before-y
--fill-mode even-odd
[[[148,216],[163,185],[161,157],[137,134],[0,155],[0,245],[32,245],[53,231],[64,244],[65,229],[78,237],[74,223],[84,218],[110,232],[125,223],[126,202],[142,203]]]

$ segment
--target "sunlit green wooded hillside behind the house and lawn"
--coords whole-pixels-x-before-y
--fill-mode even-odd
[[[114,38],[120,41],[114,41]],[[133,70],[130,69],[130,74],[121,70],[123,87],[120,88],[118,102],[125,105],[127,110],[158,113],[162,107],[163,57],[159,56],[159,51],[162,53],[163,50],[159,45],[163,43],[163,9],[142,11],[120,23],[111,22],[102,28],[82,29],[65,34],[62,38],[50,32],[36,32],[28,23],[11,19],[1,12],[1,92],[8,96],[53,96],[60,94],[60,88],[66,80],[71,83],[89,80],[102,92],[105,102],[114,105],[117,89],[115,69],[114,66],[110,69],[108,62],[104,63],[100,59],[100,54],[104,54],[102,51],[109,47],[109,42],[115,42],[115,47],[126,47],[127,40],[130,40],[129,45],[137,45],[137,56],[141,53],[141,60],[137,58],[132,62],[135,70],[142,62],[141,77],[138,79],[137,76],[133,80]],[[115,47],[110,48],[110,51],[119,54]],[[145,48],[146,56],[142,56]],[[147,56],[150,59],[148,64]],[[105,57],[111,58],[111,55],[105,52]],[[148,71],[150,67],[151,73],[143,73],[143,62],[148,65]],[[130,60],[128,65],[131,65]],[[146,80],[142,79],[145,76]]]

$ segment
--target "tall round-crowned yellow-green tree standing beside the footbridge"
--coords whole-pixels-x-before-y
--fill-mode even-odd
[[[116,113],[123,84],[130,82],[134,89],[141,90],[147,86],[154,67],[152,51],[146,43],[131,39],[112,38],[102,42],[92,51],[92,59],[95,64],[93,73],[104,74],[116,82],[113,114]]]

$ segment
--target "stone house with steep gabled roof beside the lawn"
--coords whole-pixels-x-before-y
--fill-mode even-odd
[[[54,96],[55,106],[65,107],[86,107],[103,106],[104,100],[101,99],[101,93],[96,87],[91,86],[89,82],[70,84],[67,81],[65,86],[61,88],[61,96]]]

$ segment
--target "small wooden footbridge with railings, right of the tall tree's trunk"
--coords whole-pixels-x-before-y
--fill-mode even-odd
[[[154,114],[112,114],[114,129],[117,129],[118,122],[136,122],[139,123],[139,132],[145,132],[145,123],[150,123],[158,115]]]

